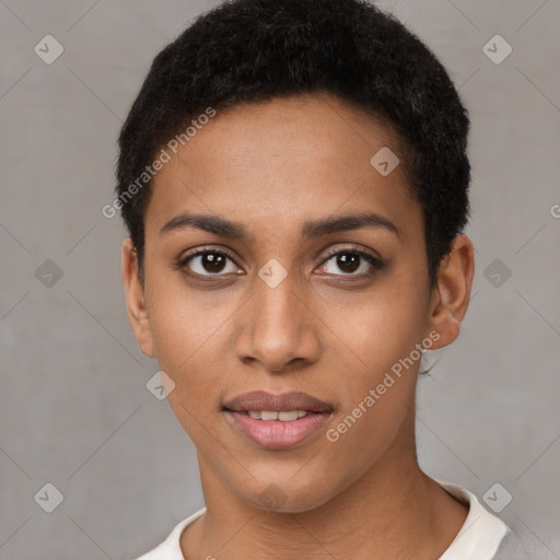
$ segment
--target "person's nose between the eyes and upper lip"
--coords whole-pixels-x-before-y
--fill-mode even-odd
[[[290,275],[276,288],[256,278],[254,295],[237,319],[237,358],[283,373],[318,360],[319,319]]]

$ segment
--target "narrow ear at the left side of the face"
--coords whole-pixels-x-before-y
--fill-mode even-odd
[[[125,284],[128,320],[136,341],[148,358],[154,358],[152,331],[144,303],[144,289],[138,276],[138,255],[130,237],[122,243],[122,283]]]

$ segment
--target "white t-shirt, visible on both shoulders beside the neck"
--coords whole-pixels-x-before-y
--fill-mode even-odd
[[[438,560],[529,560],[523,545],[508,525],[486,510],[474,493],[456,485],[436,481],[450,494],[469,506],[463,527]],[[180,550],[180,535],[187,525],[206,511],[202,508],[183,520],[160,546],[137,560],[188,560]]]

